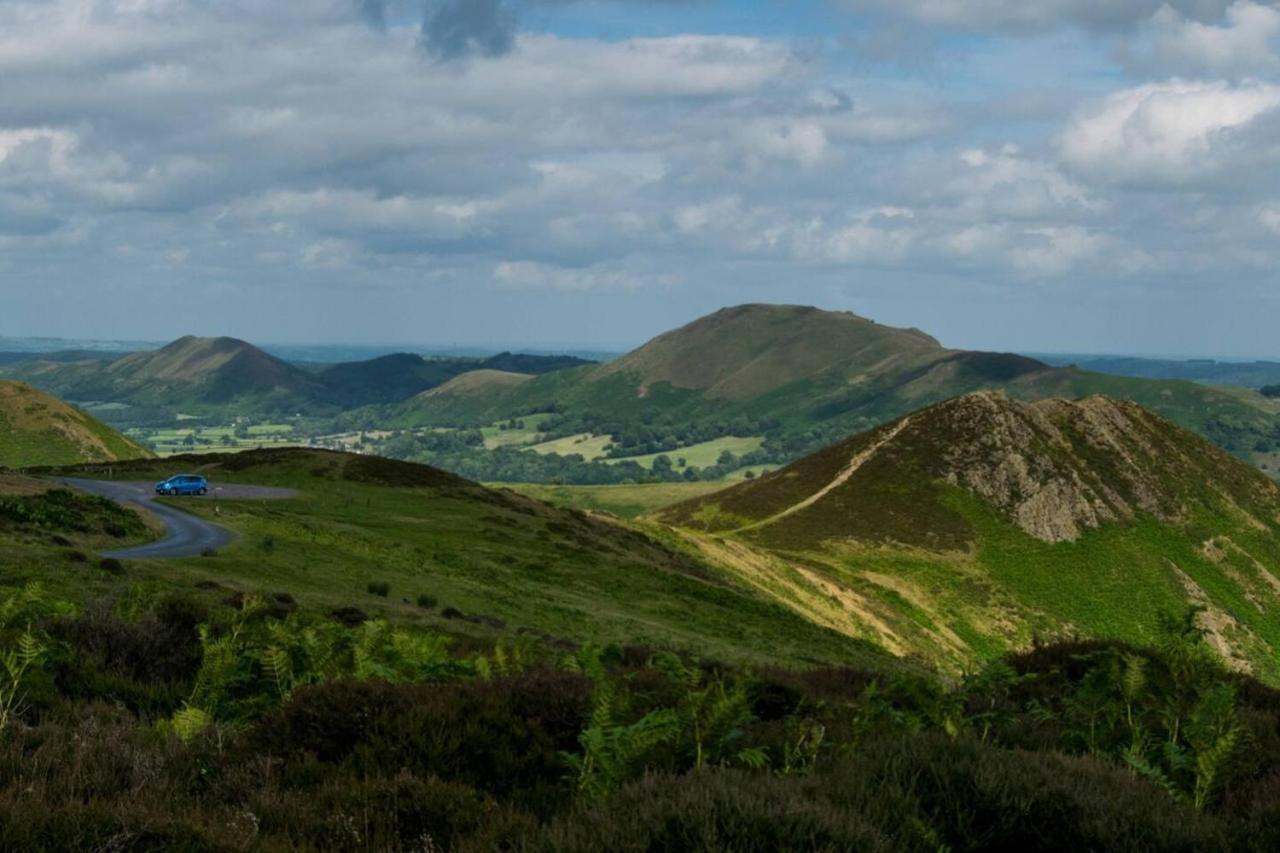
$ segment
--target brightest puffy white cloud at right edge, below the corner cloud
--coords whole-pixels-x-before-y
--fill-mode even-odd
[[[1064,160],[1080,174],[1129,186],[1208,187],[1276,163],[1280,86],[1171,81],[1115,92],[1062,133]]]

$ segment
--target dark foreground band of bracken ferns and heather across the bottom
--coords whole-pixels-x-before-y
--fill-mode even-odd
[[[1280,693],[1194,613],[951,686],[347,621],[0,596],[0,848],[1280,847]]]

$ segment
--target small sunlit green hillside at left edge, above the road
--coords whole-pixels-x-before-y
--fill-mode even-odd
[[[0,467],[114,462],[150,455],[55,397],[20,382],[0,380]]]

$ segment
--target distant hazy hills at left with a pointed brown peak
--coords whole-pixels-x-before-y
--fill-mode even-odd
[[[9,364],[8,375],[67,400],[141,409],[125,420],[177,411],[221,415],[333,414],[390,403],[444,384],[472,370],[530,374],[590,364],[572,356],[503,352],[488,359],[424,359],[388,355],[306,370],[236,338],[183,337],[159,350],[104,357],[97,352],[56,352]],[[163,410],[163,411],[161,411]]]

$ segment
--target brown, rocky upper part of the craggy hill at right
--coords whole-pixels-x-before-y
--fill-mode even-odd
[[[1184,519],[1193,505],[1272,525],[1280,487],[1142,406],[1094,396],[1023,402],[977,392],[906,415],[666,517],[772,539],[959,546],[948,488],[1043,542],[1105,524]],[[933,506],[934,526],[918,525]],[[710,511],[714,508],[714,511]]]

